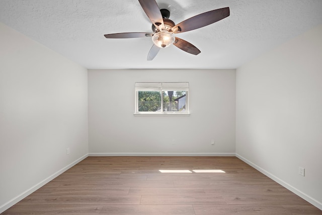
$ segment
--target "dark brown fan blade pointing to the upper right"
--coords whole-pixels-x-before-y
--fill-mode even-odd
[[[204,26],[210,25],[212,23],[218,22],[229,16],[229,8],[220,8],[213,11],[208,11],[203,14],[191,17],[181,23],[175,25],[172,30],[174,33],[182,33],[186,31],[195,30],[202,28]]]

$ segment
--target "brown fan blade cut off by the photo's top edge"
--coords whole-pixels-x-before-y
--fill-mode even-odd
[[[164,25],[162,14],[155,0],[139,0],[139,3],[143,11],[151,20],[151,22],[155,25],[155,27],[157,27],[160,24]]]

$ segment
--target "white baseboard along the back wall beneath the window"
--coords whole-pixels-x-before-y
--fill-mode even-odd
[[[89,156],[232,156],[235,153],[89,153]]]

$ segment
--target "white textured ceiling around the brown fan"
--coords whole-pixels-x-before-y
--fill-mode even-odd
[[[150,37],[106,39],[119,32],[151,32],[136,0],[1,0],[0,22],[86,68],[237,68],[263,52],[322,24],[321,0],[156,0],[176,24],[229,7],[230,16],[176,36],[201,50],[175,46],[146,56]]]

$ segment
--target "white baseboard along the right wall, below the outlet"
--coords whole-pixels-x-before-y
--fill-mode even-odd
[[[260,171],[261,173],[263,173],[264,175],[266,175],[267,177],[271,178],[272,180],[276,181],[277,183],[279,183],[280,185],[282,185],[283,187],[285,187],[286,189],[292,191],[293,193],[295,193],[296,195],[298,195],[299,197],[303,198],[304,200],[308,201],[309,203],[313,204],[315,207],[317,207],[318,209],[322,210],[322,203],[317,201],[316,199],[312,198],[311,196],[303,193],[302,191],[296,189],[295,187],[293,187],[292,185],[286,183],[285,181],[279,179],[278,177],[274,176],[273,174],[267,172],[266,170],[262,169],[261,167],[257,166],[256,164],[254,164],[253,162],[247,160],[246,158],[244,158],[243,156],[238,155],[237,153],[235,154],[237,158],[239,158],[240,160],[244,161],[245,163],[247,163],[248,165],[254,167],[255,169],[257,169],[258,171]]]

